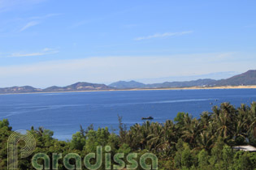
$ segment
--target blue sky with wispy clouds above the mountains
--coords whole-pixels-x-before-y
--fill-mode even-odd
[[[254,70],[255,8],[254,0],[0,0],[0,87]]]

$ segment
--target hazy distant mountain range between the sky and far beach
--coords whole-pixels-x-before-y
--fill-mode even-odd
[[[0,94],[8,93],[33,93],[33,92],[61,92],[61,91],[106,91],[119,89],[143,89],[143,88],[171,88],[171,87],[219,87],[219,86],[240,86],[240,85],[256,85],[256,70],[248,70],[243,74],[232,76],[228,79],[197,79],[184,82],[165,82],[145,84],[136,81],[119,81],[105,84],[98,83],[74,83],[66,87],[47,87],[46,89],[35,88],[31,86],[24,87],[5,87],[0,88]]]

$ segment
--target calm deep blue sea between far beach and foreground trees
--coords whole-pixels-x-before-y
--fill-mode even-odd
[[[80,125],[108,126],[118,130],[118,115],[128,127],[173,119],[179,112],[198,117],[213,105],[256,101],[256,89],[162,90],[162,91],[87,91],[68,93],[14,94],[0,96],[0,120],[8,119],[13,130],[43,126],[54,131],[54,138],[71,139]],[[212,104],[210,104],[212,103]]]

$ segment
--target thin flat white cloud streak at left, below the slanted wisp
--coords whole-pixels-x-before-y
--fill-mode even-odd
[[[37,53],[12,53],[9,57],[33,57],[33,56],[44,56],[48,54],[59,53],[56,49],[45,48],[41,52]]]

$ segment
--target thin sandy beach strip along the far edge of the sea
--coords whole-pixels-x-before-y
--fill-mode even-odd
[[[210,89],[256,89],[256,85],[249,86],[220,86],[220,87],[167,87],[167,88],[132,88],[115,90],[89,90],[89,91],[44,91],[44,92],[18,92],[0,93],[0,95],[20,95],[20,94],[49,94],[67,92],[95,92],[95,91],[166,91],[166,90],[210,90]]]

